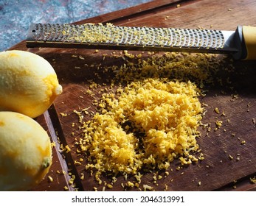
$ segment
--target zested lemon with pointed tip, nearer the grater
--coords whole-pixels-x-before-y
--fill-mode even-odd
[[[52,65],[29,51],[0,52],[0,111],[35,118],[62,93]]]

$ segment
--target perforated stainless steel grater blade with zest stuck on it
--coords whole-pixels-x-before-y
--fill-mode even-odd
[[[27,47],[226,53],[235,59],[246,59],[248,49],[243,27],[238,26],[236,31],[221,31],[113,24],[32,24]]]

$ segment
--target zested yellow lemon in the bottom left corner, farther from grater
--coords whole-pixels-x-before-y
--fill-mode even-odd
[[[0,191],[27,191],[52,164],[47,132],[28,116],[0,112]]]

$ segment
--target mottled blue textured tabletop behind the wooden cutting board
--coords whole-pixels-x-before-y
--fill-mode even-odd
[[[0,0],[0,51],[24,40],[31,23],[72,23],[150,0]]]

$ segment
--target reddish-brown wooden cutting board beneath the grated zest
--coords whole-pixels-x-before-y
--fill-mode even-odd
[[[77,24],[98,22],[111,22],[120,26],[191,29],[200,26],[205,29],[235,30],[238,25],[256,26],[256,2],[160,0],[86,19]],[[107,191],[122,191],[122,177],[118,178],[110,189],[104,184],[97,185],[94,177],[85,171],[86,160],[82,161],[81,165],[75,163],[78,157],[74,144],[81,132],[72,127],[73,122],[75,125],[78,122],[73,111],[86,107],[90,107],[89,112],[95,111],[94,98],[100,98],[99,95],[92,98],[85,92],[89,87],[85,79],[94,78],[89,65],[118,65],[121,60],[103,60],[103,54],[113,52],[105,50],[95,52],[86,49],[27,49],[25,41],[10,49],[31,51],[49,60],[63,86],[63,93],[52,107],[43,116],[36,118],[56,143],[53,148],[53,165],[48,174],[53,181],[49,181],[47,175],[32,191],[91,191],[93,187],[98,190],[105,188]],[[201,102],[208,104],[203,123],[214,125],[217,118],[224,122],[218,131],[212,129],[207,132],[201,128],[198,145],[205,159],[182,170],[176,170],[174,162],[171,166],[173,171],[166,178],[159,180],[158,185],[153,183],[152,174],[145,174],[142,178],[143,184],[151,185],[157,191],[165,190],[165,185],[168,191],[256,191],[256,185],[250,181],[250,178],[256,175],[256,62],[236,61],[232,65],[236,72],[230,74],[230,78],[234,88],[232,91],[235,92],[224,92],[224,88],[214,87],[209,88],[207,95],[201,98]],[[104,76],[102,78],[98,81],[104,82]],[[225,112],[226,116],[215,113],[215,107],[218,107],[221,113]],[[61,113],[67,116],[62,116]],[[66,145],[71,148],[71,152],[60,152],[60,146]],[[80,178],[82,173],[83,180]],[[69,182],[73,177],[75,187]],[[138,188],[130,190],[136,191]]]

